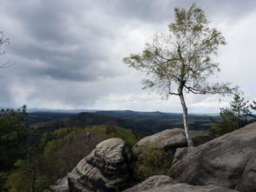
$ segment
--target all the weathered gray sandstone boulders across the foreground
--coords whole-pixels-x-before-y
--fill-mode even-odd
[[[129,162],[124,153],[124,141],[113,138],[99,143],[67,175],[67,191],[256,191],[256,123],[216,139],[204,131],[200,135],[198,131],[194,134],[199,142],[197,147],[186,147],[181,142],[183,134],[179,129],[162,131],[140,140],[133,148],[134,156],[147,142],[175,149],[167,150],[167,153],[175,153],[170,177],[149,177],[129,188]],[[200,142],[205,143],[200,145]]]

